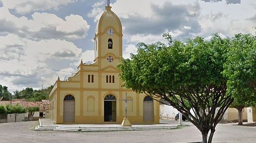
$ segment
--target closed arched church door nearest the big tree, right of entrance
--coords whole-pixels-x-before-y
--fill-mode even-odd
[[[143,121],[154,121],[154,104],[153,99],[150,96],[146,96],[143,100]]]

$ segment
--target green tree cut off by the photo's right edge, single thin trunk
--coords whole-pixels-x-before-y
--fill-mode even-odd
[[[228,79],[227,94],[235,99],[231,107],[238,110],[238,124],[243,124],[242,109],[256,102],[256,37],[236,34],[228,51],[223,75]]]

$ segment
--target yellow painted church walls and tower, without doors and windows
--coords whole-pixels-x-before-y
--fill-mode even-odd
[[[63,124],[63,104],[66,95],[75,98],[75,122],[68,124],[121,124],[125,117],[125,103],[121,99],[132,99],[128,102],[128,117],[131,124],[143,124],[143,100],[145,94],[138,94],[131,89],[121,87],[117,65],[122,56],[122,25],[116,14],[106,6],[106,11],[99,19],[95,31],[95,60],[90,65],[82,61],[77,73],[68,78],[68,81],[55,83],[49,95],[50,118],[56,124]],[[114,34],[108,36],[107,29],[112,28]],[[113,42],[113,49],[108,49],[108,39]],[[97,50],[96,50],[97,48]],[[108,62],[107,56],[113,56],[114,61]],[[88,83],[88,75],[93,75],[93,83]],[[114,75],[114,83],[106,83],[106,75]],[[92,79],[92,76],[91,76]],[[116,122],[104,122],[104,99],[107,95],[116,97]],[[154,124],[159,123],[159,103],[154,102]],[[148,123],[148,122],[147,122]]]

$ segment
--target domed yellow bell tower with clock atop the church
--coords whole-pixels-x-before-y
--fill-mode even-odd
[[[110,0],[107,0],[105,11],[98,20],[95,30],[94,62],[99,63],[99,68],[116,67],[122,57],[122,25],[111,8]]]

